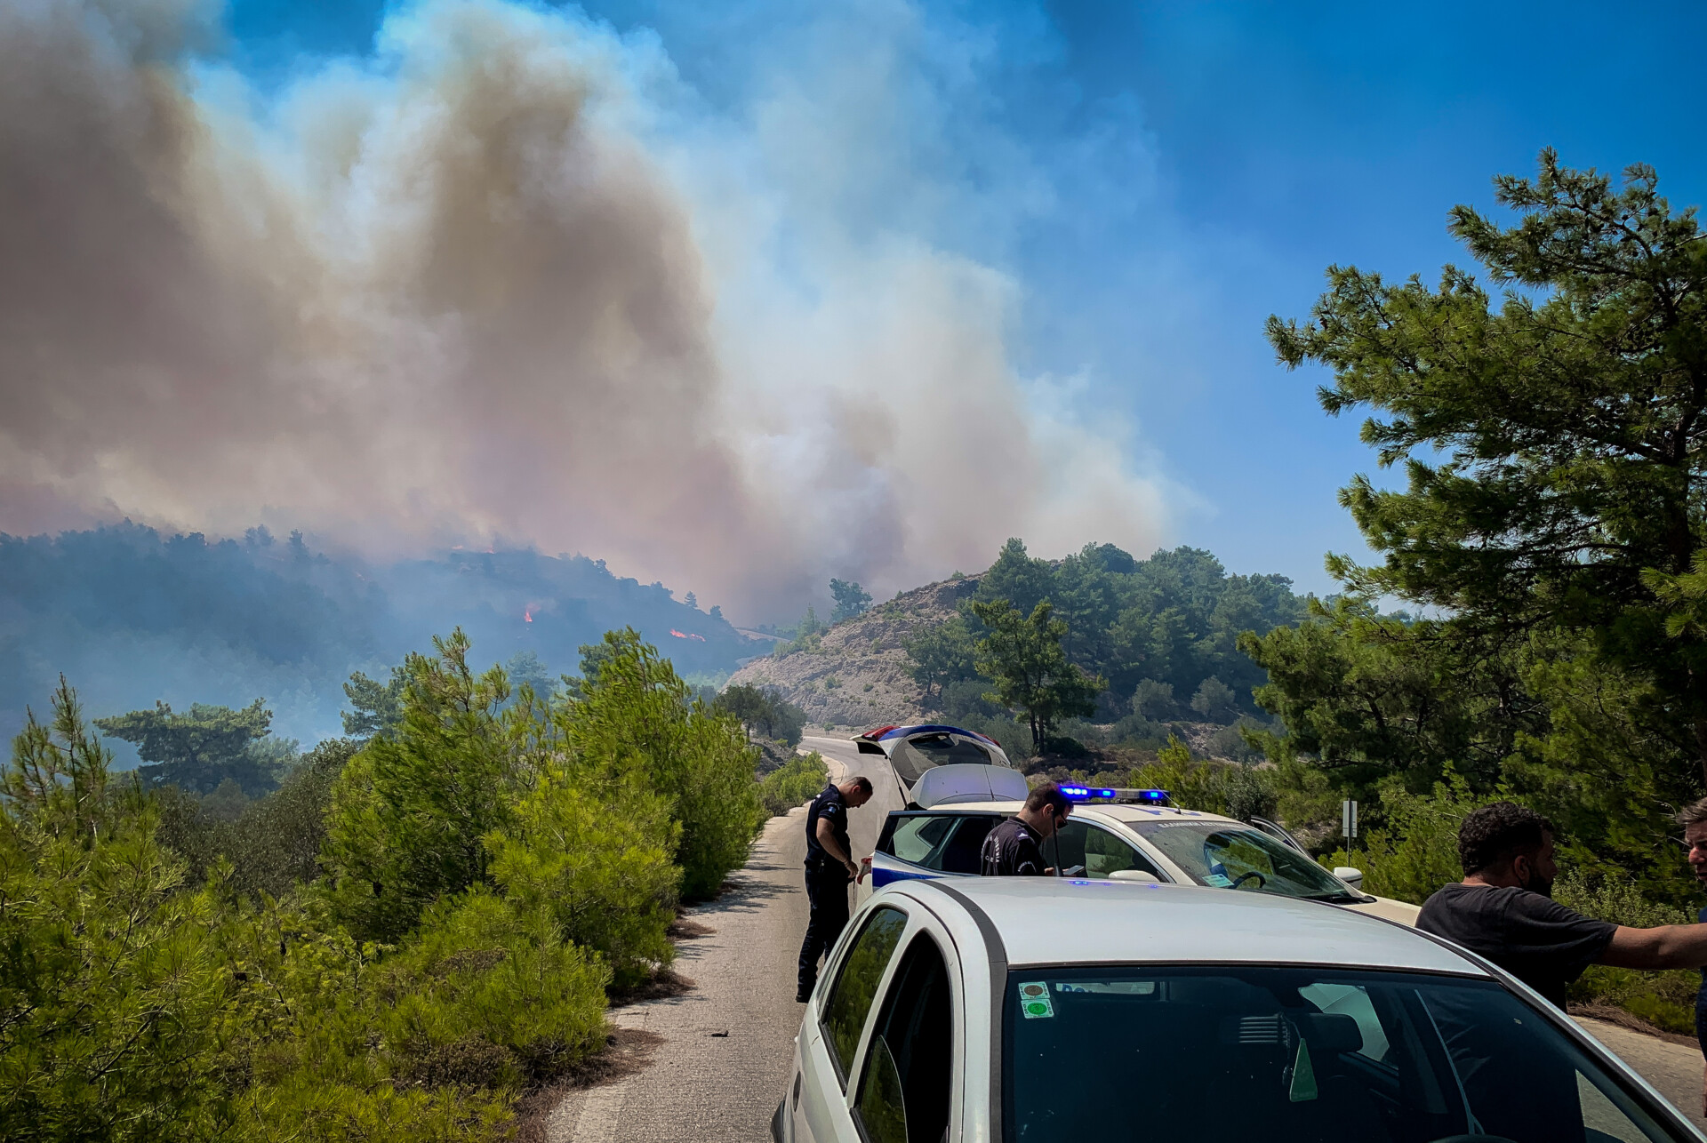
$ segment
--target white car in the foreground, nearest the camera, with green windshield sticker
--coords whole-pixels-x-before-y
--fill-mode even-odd
[[[1265,894],[987,877],[871,896],[777,1143],[1623,1143],[1698,1134],[1564,1013],[1417,930]]]

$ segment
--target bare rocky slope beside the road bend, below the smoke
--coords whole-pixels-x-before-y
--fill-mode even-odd
[[[915,587],[830,628],[816,647],[749,662],[729,682],[775,688],[821,727],[918,722],[923,694],[906,674],[901,641],[951,619],[978,580],[966,575]]]

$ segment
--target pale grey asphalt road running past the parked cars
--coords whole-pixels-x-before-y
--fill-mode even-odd
[[[884,815],[901,807],[888,763],[847,739],[807,737],[802,746],[821,752],[838,781],[850,773],[872,780],[872,800],[848,817],[855,856],[871,853]],[[546,1123],[550,1143],[770,1138],[801,1027],[794,981],[806,931],[804,855],[804,810],[773,817],[731,889],[688,913],[712,930],[681,942],[676,959],[696,988],[611,1013],[662,1042],[635,1075],[565,1097]],[[1581,1024],[1707,1129],[1698,1051],[1601,1020]]]

